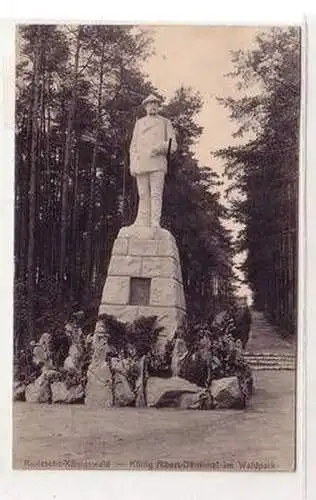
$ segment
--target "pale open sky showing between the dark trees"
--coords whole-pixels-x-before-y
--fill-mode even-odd
[[[203,127],[203,133],[195,147],[196,157],[200,165],[211,166],[222,174],[223,164],[213,158],[211,152],[238,144],[240,139],[232,137],[237,124],[229,119],[227,110],[216,97],[238,95],[236,83],[225,77],[233,69],[231,51],[251,50],[255,46],[256,34],[263,28],[169,25],[150,29],[155,55],[145,62],[144,71],[166,101],[181,85],[199,91],[204,104],[197,121]],[[236,224],[228,222],[226,225],[236,234]],[[236,264],[240,264],[244,257],[238,256]],[[239,293],[251,297],[247,286],[242,286]]]

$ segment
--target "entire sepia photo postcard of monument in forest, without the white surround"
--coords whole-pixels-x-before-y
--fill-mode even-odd
[[[301,47],[16,25],[13,469],[296,471]]]

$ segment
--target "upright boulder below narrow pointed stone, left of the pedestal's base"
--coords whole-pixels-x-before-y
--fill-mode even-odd
[[[85,393],[85,404],[90,408],[112,406],[112,374],[106,361],[91,363],[89,366]]]

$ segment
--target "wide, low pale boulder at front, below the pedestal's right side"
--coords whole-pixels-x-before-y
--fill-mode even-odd
[[[150,377],[147,382],[147,405],[156,408],[185,408],[193,402],[192,399],[188,399],[188,395],[193,397],[202,390],[198,385],[180,377]],[[186,395],[187,402],[185,402],[184,395]]]

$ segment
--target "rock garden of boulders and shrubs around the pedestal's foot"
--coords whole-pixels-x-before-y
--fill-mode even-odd
[[[240,340],[218,322],[183,325],[170,341],[156,317],[98,318],[94,334],[74,314],[20,353],[13,398],[89,407],[212,410],[247,406],[253,378]]]

